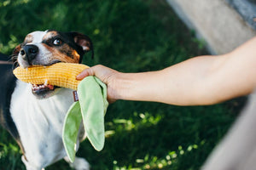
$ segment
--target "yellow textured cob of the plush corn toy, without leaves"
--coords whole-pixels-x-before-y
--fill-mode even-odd
[[[32,84],[47,83],[76,90],[80,82],[76,80],[76,76],[86,68],[89,68],[89,66],[74,63],[56,63],[49,66],[32,65],[26,69],[17,67],[14,70],[14,74],[15,77],[23,82]]]

